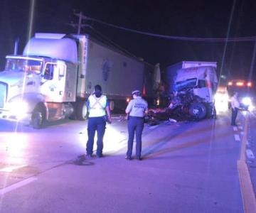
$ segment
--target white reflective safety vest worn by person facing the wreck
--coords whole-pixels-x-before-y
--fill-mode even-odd
[[[89,100],[89,117],[105,116],[105,108],[107,106],[107,97],[102,94],[101,97],[95,97],[95,94],[91,94]]]

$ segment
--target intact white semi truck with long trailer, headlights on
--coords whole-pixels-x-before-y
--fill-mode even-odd
[[[95,84],[113,108],[124,104],[133,89],[143,89],[145,70],[154,72],[149,67],[90,35],[36,33],[23,55],[6,56],[0,72],[0,119],[34,128],[65,117],[85,120],[85,101]]]

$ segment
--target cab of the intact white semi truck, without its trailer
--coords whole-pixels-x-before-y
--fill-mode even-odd
[[[67,60],[70,59],[67,53],[64,59],[50,57],[56,49],[43,45],[44,41],[49,45],[49,39],[32,38],[23,55],[6,56],[6,66],[0,72],[0,119],[22,121],[40,128],[46,120],[55,121],[73,114],[77,58],[73,53],[71,60]],[[76,48],[74,40],[57,41],[59,51],[63,47],[69,50],[70,44]],[[63,55],[61,51],[60,54]]]

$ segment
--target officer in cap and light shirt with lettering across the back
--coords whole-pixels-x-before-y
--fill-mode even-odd
[[[132,160],[132,145],[134,133],[136,134],[136,158],[142,160],[142,131],[144,128],[144,114],[147,112],[148,104],[142,99],[142,93],[139,90],[132,92],[133,99],[129,102],[125,112],[128,114],[128,148],[127,160]]]

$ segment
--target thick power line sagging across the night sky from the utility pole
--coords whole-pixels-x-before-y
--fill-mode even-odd
[[[166,38],[166,39],[171,39],[171,40],[187,40],[187,41],[200,41],[200,42],[245,42],[245,41],[255,41],[256,40],[256,36],[235,37],[235,38],[196,38],[196,37],[183,37],[183,36],[173,36],[173,35],[161,35],[161,34],[156,34],[156,33],[137,31],[137,30],[134,30],[131,28],[124,28],[122,26],[116,26],[112,23],[107,23],[105,21],[100,21],[96,18],[90,18],[90,17],[84,16],[84,15],[82,15],[82,13],[75,13],[75,16],[82,17],[82,20],[95,21],[102,25],[110,26],[113,28],[119,28],[124,31],[130,31],[130,32],[139,33],[142,35],[149,35],[149,36],[153,36],[153,37]]]

